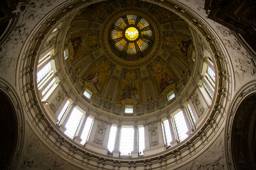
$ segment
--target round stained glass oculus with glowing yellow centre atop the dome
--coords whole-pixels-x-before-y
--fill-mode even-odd
[[[153,41],[153,30],[149,22],[134,14],[118,18],[109,33],[115,51],[122,55],[141,55]]]

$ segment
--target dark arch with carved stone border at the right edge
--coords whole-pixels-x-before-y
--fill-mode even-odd
[[[255,133],[255,103],[256,84],[248,83],[237,92],[230,105],[225,127],[225,154],[228,169],[255,168],[255,156],[252,156],[255,155],[255,150],[252,151],[253,143],[249,142],[255,138],[253,134]],[[250,159],[252,157],[254,162]]]

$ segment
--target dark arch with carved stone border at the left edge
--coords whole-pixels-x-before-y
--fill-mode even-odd
[[[8,83],[0,79],[1,169],[15,169],[24,142],[24,117],[19,99]]]

